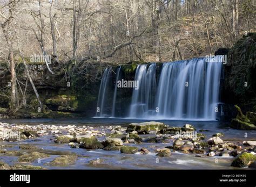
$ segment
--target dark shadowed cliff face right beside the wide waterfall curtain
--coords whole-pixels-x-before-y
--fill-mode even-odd
[[[256,33],[248,33],[228,52],[223,102],[239,105],[243,112],[256,105]],[[254,111],[256,112],[256,111]]]

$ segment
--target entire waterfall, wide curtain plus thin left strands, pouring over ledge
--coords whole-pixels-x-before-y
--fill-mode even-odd
[[[215,120],[219,103],[219,87],[222,61],[206,61],[196,58],[187,61],[163,63],[157,81],[156,63],[140,64],[136,69],[131,105],[127,116],[140,119]],[[100,112],[97,117],[116,117],[117,81],[121,67],[117,69],[113,96],[107,85],[112,69],[105,69],[98,97]],[[125,89],[125,88],[122,88]],[[107,114],[106,99],[112,99],[112,113]]]

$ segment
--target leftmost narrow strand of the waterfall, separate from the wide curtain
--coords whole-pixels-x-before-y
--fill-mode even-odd
[[[105,108],[105,106],[107,105],[107,98],[109,97],[109,89],[110,89],[109,83],[110,83],[111,74],[112,74],[112,68],[106,68],[104,70],[102,81],[100,82],[100,87],[99,87],[97,113],[96,113],[97,117],[107,116],[107,109]]]

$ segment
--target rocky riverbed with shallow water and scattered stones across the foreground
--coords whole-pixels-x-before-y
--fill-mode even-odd
[[[154,121],[0,123],[0,169],[255,169],[255,136],[225,133]]]

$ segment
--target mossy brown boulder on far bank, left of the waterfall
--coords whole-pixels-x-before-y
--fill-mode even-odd
[[[75,111],[78,107],[78,100],[73,95],[58,95],[45,100],[46,105],[51,110]]]

